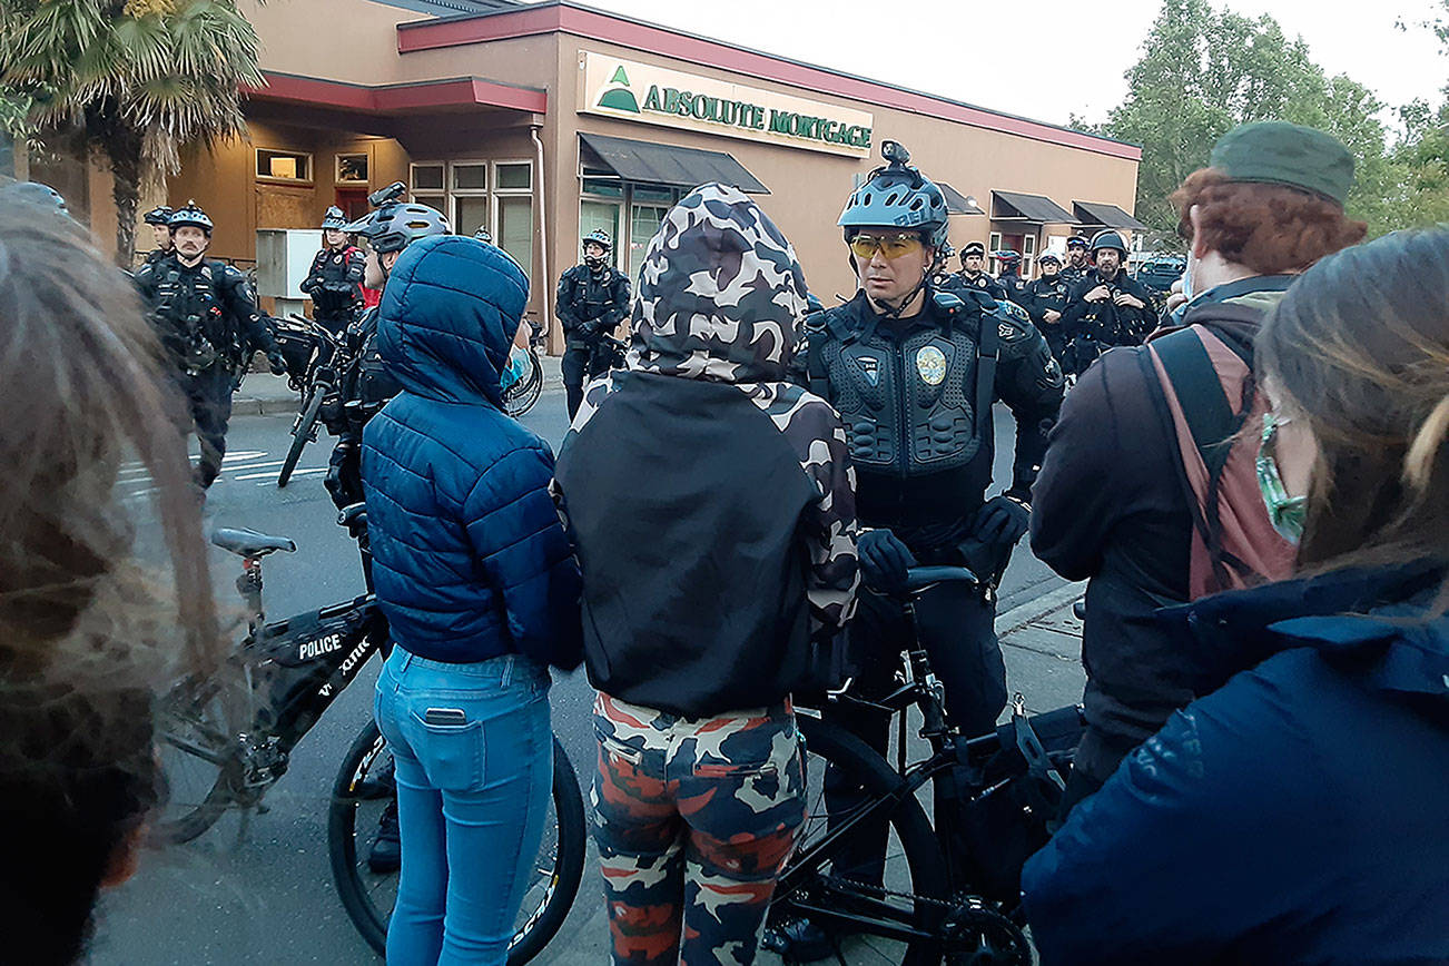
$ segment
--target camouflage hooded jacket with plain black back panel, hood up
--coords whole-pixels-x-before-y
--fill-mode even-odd
[[[600,691],[688,717],[774,704],[851,616],[845,430],[785,381],[804,311],[794,249],[735,188],[696,188],[651,240],[627,365],[588,387],[555,475]]]

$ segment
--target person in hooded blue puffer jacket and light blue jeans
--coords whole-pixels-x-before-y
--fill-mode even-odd
[[[362,487],[396,644],[374,705],[403,840],[393,966],[507,960],[549,801],[548,668],[582,659],[554,456],[500,408],[527,297],[511,258],[461,236],[410,245],[383,293],[401,392],[362,432]]]

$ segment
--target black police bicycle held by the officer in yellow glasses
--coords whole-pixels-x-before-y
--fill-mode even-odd
[[[868,705],[895,715],[895,762],[817,711],[797,707],[804,737],[806,821],[780,875],[769,907],[769,934],[788,936],[809,921],[829,937],[864,943],[871,962],[923,966],[1030,966],[1032,947],[1020,908],[1020,868],[1046,843],[1065,786],[1072,749],[1085,727],[1080,705],[1027,715],[1022,695],[1011,718],[969,737],[951,724],[945,691],[919,639],[916,604],[943,584],[977,587],[959,566],[911,568],[898,595],[917,629],[903,652],[897,688],[867,701],[851,682],[829,702]],[[929,753],[910,760],[907,713]],[[919,718],[917,718],[919,715]],[[824,773],[832,775],[832,805]],[[935,827],[920,789],[930,785]],[[840,805],[846,791],[853,805]],[[884,875],[855,872],[862,834],[887,826]],[[869,878],[871,881],[865,881]],[[839,962],[856,950],[832,938]],[[864,950],[861,950],[864,954]]]

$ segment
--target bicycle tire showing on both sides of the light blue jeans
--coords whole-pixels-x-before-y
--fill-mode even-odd
[[[385,743],[377,723],[368,721],[342,760],[327,814],[327,856],[338,896],[348,918],[378,956],[387,952],[387,914],[372,902],[361,876],[356,821],[358,805],[364,801],[358,797],[358,789],[362,788],[368,769],[384,749]],[[375,786],[371,791],[374,797],[378,792]],[[543,902],[527,915],[522,931],[514,936],[509,947],[510,965],[529,962],[558,934],[584,878],[587,839],[584,797],[572,763],[558,739],[554,739],[554,814],[558,844],[552,875],[543,886]]]

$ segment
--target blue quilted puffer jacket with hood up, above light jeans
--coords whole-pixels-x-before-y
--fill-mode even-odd
[[[581,660],[554,456],[500,408],[527,294],[513,259],[455,235],[410,245],[383,293],[377,346],[403,391],[362,432],[362,485],[378,602],[420,658]]]

